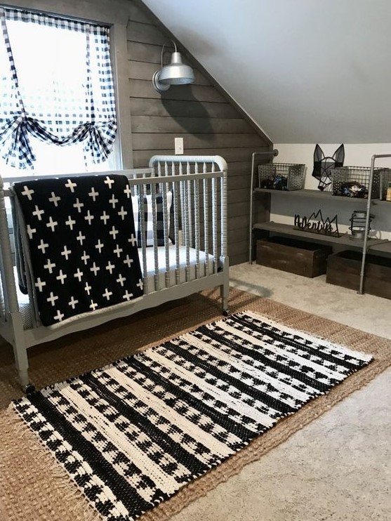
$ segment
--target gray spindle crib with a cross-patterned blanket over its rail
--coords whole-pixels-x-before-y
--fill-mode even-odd
[[[134,198],[140,204],[135,225],[140,230],[138,257],[144,294],[135,300],[77,315],[53,327],[42,325],[37,315],[34,284],[29,284],[27,295],[18,289],[14,230],[6,208],[6,198],[12,198],[13,192],[4,185],[12,180],[0,178],[0,335],[13,346],[20,384],[27,392],[34,389],[29,382],[27,357],[27,349],[33,345],[216,286],[220,286],[223,312],[228,311],[225,160],[219,156],[154,156],[148,169],[98,175],[114,173],[126,175],[133,205]],[[148,211],[145,197],[150,197]],[[163,201],[159,226],[164,244],[160,246],[157,197]]]

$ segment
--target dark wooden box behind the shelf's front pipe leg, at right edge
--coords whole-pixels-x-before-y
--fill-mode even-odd
[[[339,251],[327,260],[326,282],[359,291],[361,251]],[[391,298],[391,259],[366,255],[364,293]]]

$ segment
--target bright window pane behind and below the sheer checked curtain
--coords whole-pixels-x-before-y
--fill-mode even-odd
[[[19,114],[22,116],[22,107],[25,108],[34,126],[28,133],[26,131],[27,139],[37,159],[31,169],[19,173],[26,175],[31,171],[37,175],[114,169],[114,154],[110,154],[110,161],[103,161],[107,149],[111,150],[116,128],[107,27],[64,22],[25,12],[19,19],[15,13],[20,11],[8,11],[6,27],[20,96],[11,81],[9,58],[4,41],[0,39],[0,70],[6,72],[0,76],[0,118],[14,121]],[[50,135],[37,131],[36,124]],[[88,128],[93,128],[94,132],[101,133],[100,141],[96,143],[105,145],[96,147],[94,135],[91,137],[84,131],[86,124],[91,125]],[[43,140],[32,136],[32,132]],[[81,135],[87,135],[88,140],[63,146],[50,143],[50,140],[69,143],[79,140]],[[10,143],[8,139],[6,150],[12,150]],[[93,163],[90,152],[84,153],[83,143],[94,143],[91,153],[99,163]],[[5,147],[1,154],[4,150]],[[22,155],[18,151],[14,157]],[[0,169],[8,176],[18,175],[18,169],[6,166],[2,158]]]

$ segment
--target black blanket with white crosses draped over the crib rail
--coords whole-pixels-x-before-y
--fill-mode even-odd
[[[41,178],[13,191],[44,326],[143,294],[126,176]]]

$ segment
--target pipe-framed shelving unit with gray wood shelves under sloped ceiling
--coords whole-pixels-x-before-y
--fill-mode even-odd
[[[253,161],[251,164],[251,193],[250,193],[250,243],[249,243],[249,252],[248,258],[249,263],[253,262],[253,230],[263,230],[267,232],[276,233],[278,235],[289,235],[293,237],[300,237],[301,239],[309,239],[312,242],[320,242],[324,244],[340,244],[343,246],[349,246],[350,249],[359,249],[362,251],[362,265],[360,271],[360,283],[359,283],[359,294],[363,293],[363,285],[364,285],[364,272],[365,272],[365,261],[366,261],[366,253],[369,249],[371,251],[390,255],[391,254],[391,241],[387,239],[371,239],[368,237],[368,228],[369,228],[369,215],[371,213],[371,205],[373,204],[390,204],[390,202],[381,201],[380,199],[372,199],[372,187],[373,187],[373,171],[375,169],[375,161],[378,158],[383,157],[391,157],[391,154],[375,154],[371,159],[371,171],[369,174],[369,187],[368,187],[368,198],[367,199],[357,199],[357,198],[349,198],[343,197],[344,204],[364,204],[366,205],[366,230],[364,233],[364,239],[362,241],[352,241],[350,239],[350,235],[348,233],[343,234],[341,237],[331,237],[328,235],[317,235],[311,232],[305,232],[302,230],[296,230],[291,225],[285,225],[281,223],[274,223],[273,221],[267,221],[263,223],[253,223],[253,197],[255,194],[273,194],[277,196],[283,197],[305,197],[305,198],[316,198],[322,199],[323,201],[334,201],[338,202],[338,199],[342,199],[338,196],[331,194],[330,192],[320,192],[319,190],[292,190],[292,191],[283,191],[283,190],[270,190],[267,188],[258,188],[254,187],[254,166],[255,166],[255,157],[257,154],[268,154],[269,156],[277,156],[278,150],[273,150],[272,152],[254,152],[253,153]],[[270,196],[271,197],[271,196]]]

